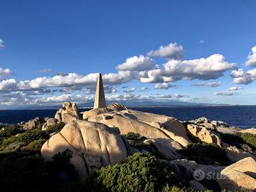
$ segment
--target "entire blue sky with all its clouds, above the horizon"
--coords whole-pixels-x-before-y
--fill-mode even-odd
[[[0,0],[0,109],[256,105],[256,1]]]

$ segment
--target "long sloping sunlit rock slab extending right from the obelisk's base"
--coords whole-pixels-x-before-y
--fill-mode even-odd
[[[102,122],[109,127],[118,127],[121,134],[128,132],[138,133],[148,139],[173,139],[182,146],[188,146],[191,142],[188,139],[186,128],[181,122],[173,117],[160,114],[151,114],[135,110],[115,111],[90,117],[92,122]]]

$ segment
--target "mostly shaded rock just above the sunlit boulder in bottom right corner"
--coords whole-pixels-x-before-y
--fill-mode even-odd
[[[252,159],[256,159],[256,157],[242,149],[238,149],[236,146],[231,146],[229,144],[226,144],[224,142],[221,142],[222,148],[225,150],[228,158],[231,161],[239,161],[241,159],[244,159],[246,157],[251,157]]]

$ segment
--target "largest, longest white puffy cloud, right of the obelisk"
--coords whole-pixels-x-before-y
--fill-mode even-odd
[[[149,70],[141,82],[171,82],[176,80],[211,80],[224,75],[225,71],[236,67],[235,63],[225,61],[223,55],[214,54],[208,58],[194,60],[169,60],[164,69]]]

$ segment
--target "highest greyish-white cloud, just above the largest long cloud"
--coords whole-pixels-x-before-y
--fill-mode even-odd
[[[167,59],[182,60],[184,50],[182,46],[178,46],[177,43],[170,43],[167,46],[160,46],[158,50],[151,50],[146,53],[149,57],[160,57]]]

